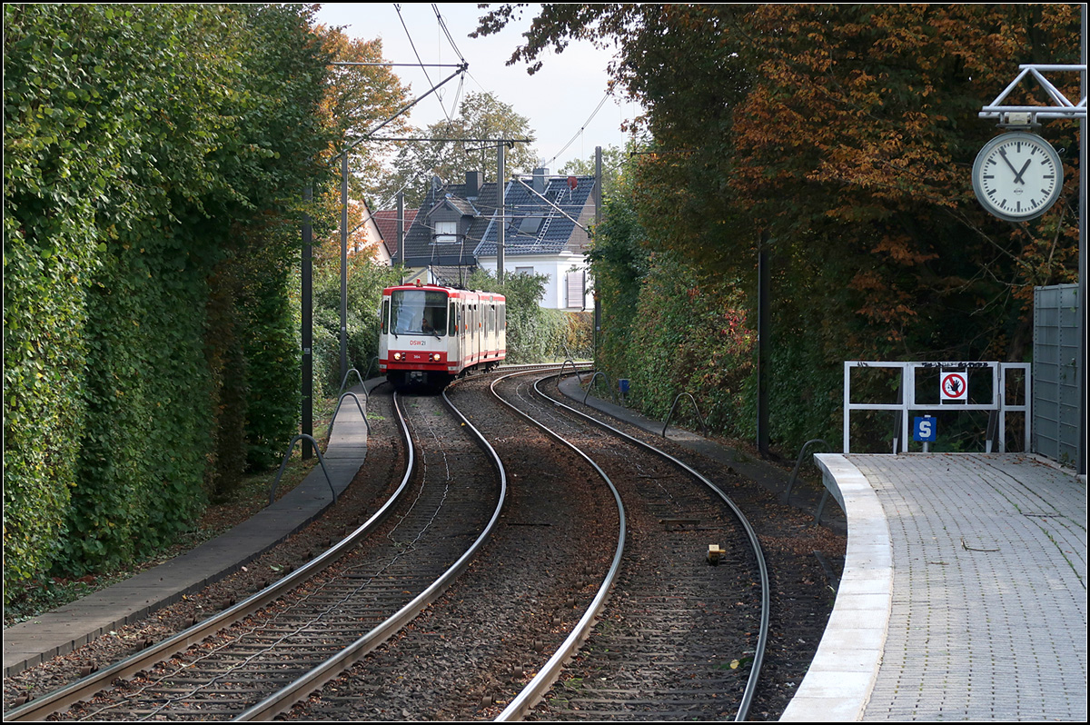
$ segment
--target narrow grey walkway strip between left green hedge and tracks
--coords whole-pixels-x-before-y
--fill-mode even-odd
[[[366,387],[370,390],[383,382],[367,380]],[[362,406],[363,388],[358,385],[350,391]],[[355,478],[366,454],[366,423],[354,399],[347,396],[323,451],[328,480],[323,467],[315,466],[295,488],[231,531],[154,569],[8,627],[3,630],[4,677],[66,654],[239,570],[320,516],[332,504],[332,491],[340,494]]]

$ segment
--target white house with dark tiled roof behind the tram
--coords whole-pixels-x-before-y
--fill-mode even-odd
[[[505,274],[548,278],[540,304],[556,310],[593,306],[588,275],[588,228],[594,218],[594,177],[533,177],[504,185],[504,214],[495,182],[477,171],[459,184],[434,179],[405,233],[404,264],[425,281],[460,285],[477,267],[496,274],[504,225]]]

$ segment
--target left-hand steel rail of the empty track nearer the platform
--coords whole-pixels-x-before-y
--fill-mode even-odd
[[[511,702],[507,705],[507,708],[505,708],[504,711],[496,717],[498,722],[507,722],[523,717],[525,713],[529,712],[529,710],[534,704],[536,704],[541,696],[544,694],[544,692],[549,687],[552,687],[552,685],[560,676],[560,670],[564,664],[576,652],[579,645],[590,636],[591,628],[594,626],[598,614],[605,606],[606,600],[609,596],[609,592],[613,590],[614,583],[616,582],[617,577],[620,573],[621,557],[625,554],[625,541],[626,541],[625,505],[620,499],[620,493],[617,491],[617,487],[614,486],[613,481],[609,480],[609,476],[606,475],[605,471],[603,471],[602,468],[598,467],[598,464],[595,463],[590,456],[588,456],[585,452],[583,452],[578,447],[572,445],[570,442],[566,440],[558,433],[545,426],[540,421],[530,416],[528,413],[519,410],[507,400],[504,400],[496,391],[496,384],[509,377],[517,377],[519,375],[529,375],[530,373],[535,373],[535,372],[540,371],[537,370],[522,371],[498,377],[489,386],[492,394],[496,397],[497,400],[499,400],[505,406],[510,408],[516,414],[520,415],[524,420],[529,421],[531,424],[541,428],[546,435],[548,435],[557,443],[567,446],[574,454],[577,454],[578,456],[583,458],[588,463],[590,463],[595,471],[597,471],[598,475],[602,476],[603,481],[605,481],[606,485],[609,487],[609,491],[613,492],[614,500],[617,502],[617,516],[618,516],[617,548],[616,552],[614,553],[613,564],[609,567],[609,571],[606,572],[606,577],[603,580],[602,585],[598,587],[597,593],[594,595],[594,599],[591,601],[591,604],[586,607],[586,611],[583,613],[583,616],[580,617],[578,623],[576,623],[574,628],[571,630],[571,632],[568,635],[565,641],[560,644],[559,649],[557,649],[556,652],[553,654],[553,656],[549,657],[548,662],[546,662],[545,665],[542,666],[542,668],[537,672],[537,675],[535,675],[534,678],[530,680],[530,682],[524,688],[522,688],[522,691],[520,691],[519,694],[516,696],[516,698],[511,700]]]

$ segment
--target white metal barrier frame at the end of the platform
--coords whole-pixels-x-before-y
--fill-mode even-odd
[[[899,368],[901,371],[900,377],[900,389],[901,389],[901,402],[895,403],[857,403],[851,402],[851,371],[856,367],[889,367]],[[938,370],[982,370],[991,368],[992,371],[992,401],[989,403],[946,403],[946,404],[934,404],[934,403],[918,403],[916,401],[916,371],[919,368],[938,368]],[[1033,419],[1030,415],[1030,403],[1033,399],[1032,389],[1032,363],[1003,363],[1003,362],[867,362],[859,360],[848,360],[844,363],[844,452],[849,454],[850,450],[850,431],[851,431],[851,411],[853,410],[888,410],[900,412],[901,422],[901,439],[897,442],[897,446],[894,452],[908,452],[908,444],[910,439],[909,431],[911,430],[908,425],[908,413],[909,411],[964,411],[964,410],[988,410],[995,411],[998,413],[1000,423],[1000,452],[1006,452],[1007,444],[1007,433],[1006,433],[1006,413],[1015,412],[1022,413],[1026,420],[1026,431],[1025,431],[1025,442],[1022,450],[1030,450],[1030,436],[1031,427],[1033,424]],[[1022,404],[1010,404],[1006,402],[1006,384],[1007,384],[1007,371],[1008,370],[1021,370],[1025,371],[1026,375],[1026,394],[1025,402]],[[897,449],[899,448],[899,450]]]

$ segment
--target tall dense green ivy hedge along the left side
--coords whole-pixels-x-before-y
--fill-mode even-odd
[[[294,430],[311,12],[4,5],[5,603],[169,543]]]

